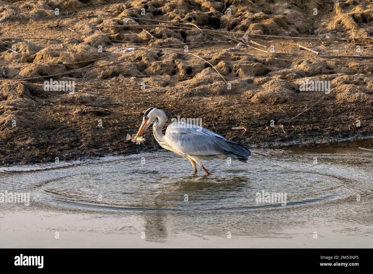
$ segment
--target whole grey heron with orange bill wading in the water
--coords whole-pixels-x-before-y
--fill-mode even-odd
[[[148,108],[144,113],[135,140],[154,122],[153,134],[158,144],[162,148],[187,158],[192,163],[194,173],[197,173],[197,163],[207,175],[211,174],[203,166],[201,160],[230,157],[247,163],[250,151],[243,145],[227,140],[211,130],[185,122],[171,123],[167,126],[166,134],[163,134],[162,128],[166,124],[166,120],[167,116],[161,108]]]

